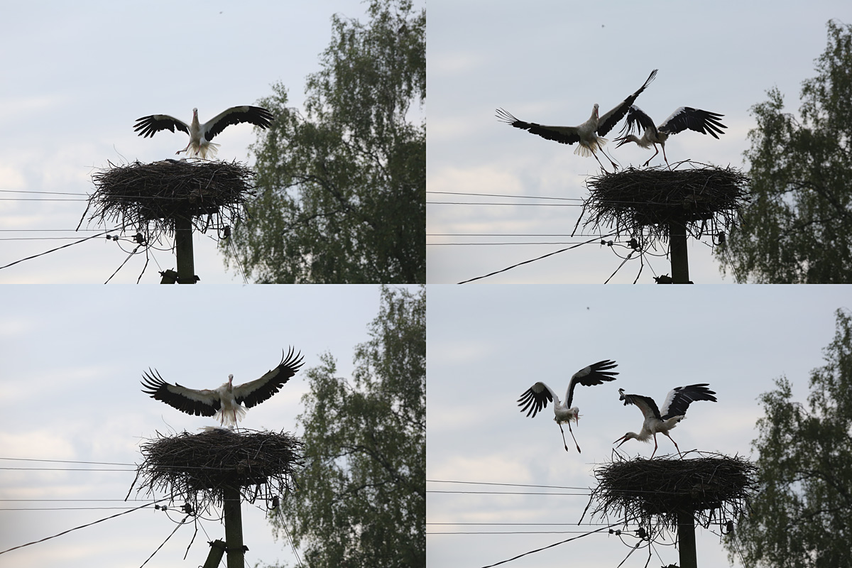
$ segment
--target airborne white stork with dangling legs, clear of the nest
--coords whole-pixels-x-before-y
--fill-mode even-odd
[[[565,430],[562,429],[562,424],[568,425],[568,432],[574,440],[574,445],[577,446],[577,451],[580,451],[580,446],[577,444],[577,439],[574,438],[573,430],[571,429],[571,421],[578,422],[580,420],[580,410],[576,406],[571,406],[574,399],[574,387],[581,384],[584,387],[592,385],[600,385],[606,381],[614,381],[618,371],[612,371],[616,367],[615,361],[599,361],[595,364],[590,364],[588,367],[574,373],[571,377],[571,382],[568,383],[568,390],[565,392],[565,404],[561,404],[559,396],[552,388],[537,382],[532,387],[527,388],[527,391],[521,394],[518,399],[518,406],[521,406],[521,412],[527,410],[527,416],[538,414],[544,408],[547,408],[547,403],[553,403],[553,420],[559,425],[559,431],[562,433],[562,444],[565,445],[565,451],[568,451],[568,445],[565,441]]]

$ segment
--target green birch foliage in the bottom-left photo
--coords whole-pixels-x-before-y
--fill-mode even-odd
[[[351,382],[331,354],[308,370],[306,468],[281,507],[311,568],[426,565],[425,290],[383,288],[370,337]]]

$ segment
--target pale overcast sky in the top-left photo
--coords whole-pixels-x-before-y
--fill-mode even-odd
[[[320,70],[331,40],[331,15],[366,21],[365,8],[358,0],[4,3],[0,266],[102,232],[87,222],[73,232],[98,169],[176,158],[186,146],[183,133],[141,138],[136,118],[163,113],[188,123],[198,107],[208,120],[271,95],[279,82],[290,106],[302,107],[304,79]],[[231,126],[216,137],[218,158],[253,164],[255,140],[249,124]],[[5,240],[21,238],[38,240]],[[194,247],[202,282],[243,281],[225,270],[209,235],[196,232]],[[0,283],[101,284],[132,248],[92,239],[4,268]],[[112,281],[135,282],[145,261],[136,255]],[[158,271],[175,266],[170,250],[154,250],[141,281],[158,283]]]

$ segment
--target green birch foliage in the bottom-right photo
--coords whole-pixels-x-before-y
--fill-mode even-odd
[[[811,372],[808,408],[791,383],[761,397],[760,493],[737,535],[745,565],[849,565],[852,534],[852,314],[838,310],[825,365]],[[726,546],[732,559],[733,539]]]

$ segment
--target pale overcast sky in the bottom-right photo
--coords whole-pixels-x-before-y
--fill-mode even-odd
[[[588,514],[584,525],[576,525],[588,491],[573,491],[576,496],[436,491],[570,492],[439,481],[594,487],[593,471],[611,459],[613,441],[642,427],[640,410],[619,402],[619,387],[661,402],[673,387],[710,383],[718,402],[692,404],[672,438],[682,451],[755,457],[751,440],[763,415],[758,395],[786,376],[795,398],[805,402],[809,371],[824,364],[822,349],[833,339],[835,311],[852,307],[850,297],[848,286],[430,286],[429,567],[479,568],[600,528],[587,523],[606,519]],[[552,406],[528,418],[517,399],[537,381],[564,399],[570,376],[602,359],[618,363],[618,379],[577,387],[574,404],[582,418],[573,431],[582,453],[573,448],[567,428],[566,452]],[[653,443],[635,440],[621,447],[626,456],[650,457],[653,451]],[[659,436],[658,455],[674,452]],[[556,533],[437,534],[463,531]],[[699,529],[697,537],[702,565],[728,565],[718,536]],[[673,547],[657,550],[660,558],[654,554],[651,566],[678,563]],[[628,552],[616,537],[602,534],[508,565],[613,568]],[[625,567],[642,568],[647,560],[642,549]]]

